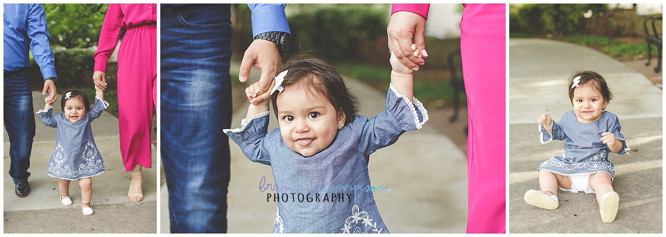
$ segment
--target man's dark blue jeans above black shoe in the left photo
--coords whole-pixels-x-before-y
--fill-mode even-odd
[[[4,110],[5,130],[9,135],[9,157],[12,164],[9,175],[14,182],[28,180],[30,172],[30,152],[35,137],[35,114],[33,111],[33,93],[30,90],[28,68],[5,73]],[[44,158],[46,159],[46,158]]]

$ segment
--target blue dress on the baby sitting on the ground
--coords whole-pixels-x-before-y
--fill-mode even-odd
[[[539,168],[560,175],[588,175],[597,172],[610,174],[615,179],[613,163],[608,161],[610,150],[600,139],[604,132],[612,132],[615,139],[622,140],[622,149],[617,154],[624,154],[629,150],[624,136],[620,133],[620,120],[615,114],[608,111],[601,112],[597,121],[592,123],[581,123],[576,119],[574,111],[565,112],[560,119],[560,124],[553,121],[552,137],[539,125],[541,143],[556,140],[564,140],[564,153],[556,155],[543,161]]]

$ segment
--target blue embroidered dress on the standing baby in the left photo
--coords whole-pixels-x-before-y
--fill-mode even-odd
[[[53,107],[37,112],[44,125],[56,128],[56,150],[49,160],[49,176],[74,180],[104,172],[104,162],[92,137],[90,122],[108,106],[106,101],[95,98],[95,105],[76,123],[67,121],[62,113],[51,115]]]

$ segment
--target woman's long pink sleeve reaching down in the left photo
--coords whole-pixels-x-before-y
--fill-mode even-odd
[[[116,49],[120,28],[123,25],[123,12],[119,4],[109,4],[109,9],[104,16],[102,30],[99,33],[99,42],[97,51],[93,55],[95,58],[94,71],[105,71],[106,61]]]

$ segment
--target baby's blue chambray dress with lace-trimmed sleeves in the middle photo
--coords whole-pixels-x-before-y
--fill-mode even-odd
[[[251,161],[271,166],[277,186],[302,187],[297,191],[278,190],[278,195],[289,195],[289,201],[278,202],[273,232],[388,233],[373,193],[362,190],[371,186],[370,154],[395,143],[403,132],[421,128],[428,119],[427,110],[416,98],[413,103],[404,98],[393,86],[389,87],[384,112],[372,119],[355,116],[354,121],[338,130],[328,148],[311,157],[289,149],[279,128],[267,132],[268,112],[243,121],[241,128],[224,130]],[[343,189],[345,185],[350,187]],[[358,191],[350,189],[356,185]],[[335,191],[331,192],[331,188]],[[339,198],[331,202],[292,202],[291,193],[351,193],[351,198],[344,195],[342,202]]]

